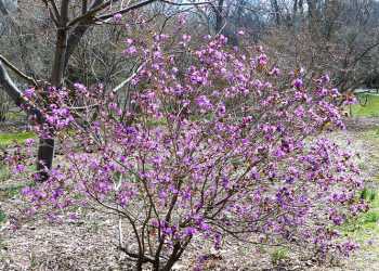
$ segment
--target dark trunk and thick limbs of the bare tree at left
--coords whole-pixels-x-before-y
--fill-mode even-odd
[[[131,12],[133,10],[140,9],[144,5],[155,2],[156,0],[146,0],[142,1],[138,4],[133,4],[130,8],[126,8],[120,10],[121,13]],[[223,3],[224,0],[220,0]],[[55,1],[53,0],[52,2]],[[3,14],[8,14],[6,9],[2,5],[3,1],[0,0],[0,12]],[[78,47],[81,38],[86,34],[86,31],[92,25],[92,18],[100,12],[101,10],[105,10],[108,4],[105,4],[104,0],[93,0],[90,7],[88,7],[88,0],[82,0],[82,18],[77,17],[77,24],[70,25],[71,30],[70,35],[67,27],[68,25],[68,7],[70,0],[61,0],[61,9],[60,12],[55,12],[52,14],[53,21],[57,26],[56,30],[56,42],[55,42],[55,52],[54,52],[54,61],[51,73],[51,85],[55,88],[62,88],[64,86],[64,76],[67,69],[67,64],[69,57],[71,56],[75,49]],[[109,2],[110,3],[110,2]],[[113,16],[113,13],[106,14],[103,18],[109,18]],[[75,21],[75,20],[74,20]],[[5,63],[6,64],[6,63]],[[25,79],[25,78],[24,78]],[[16,88],[11,78],[9,77],[2,62],[0,60],[0,83],[4,86],[5,92],[14,100],[14,102],[19,105],[27,103],[25,99],[23,99],[23,93]],[[29,105],[30,107],[30,105]],[[42,113],[37,107],[30,107],[28,109],[30,115],[36,115],[39,122],[45,121]],[[48,179],[48,172],[44,170],[45,168],[49,170],[52,168],[53,157],[54,157],[54,138],[53,134],[47,139],[41,138],[40,144],[38,149],[37,156],[37,170],[40,173],[40,178],[38,180],[44,181]]]

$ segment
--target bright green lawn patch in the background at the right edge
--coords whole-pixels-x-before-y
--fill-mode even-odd
[[[379,95],[358,94],[357,99],[362,104],[352,105],[353,117],[379,117]],[[365,103],[367,99],[367,103]]]

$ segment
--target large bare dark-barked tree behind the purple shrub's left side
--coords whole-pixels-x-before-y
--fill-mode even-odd
[[[117,13],[126,14],[156,1],[157,0],[131,1],[129,2],[129,5],[123,7],[122,3],[117,4],[117,0],[94,0],[91,4],[89,4],[87,0],[82,0],[80,3],[75,0],[42,0],[41,2],[49,11],[50,18],[55,26],[55,43],[53,46],[54,53],[51,75],[50,78],[44,80],[45,83],[43,83],[43,88],[48,86],[61,88],[65,85],[65,73],[69,59],[77,49],[84,34],[94,24],[107,22]],[[2,4],[0,7],[1,12],[9,14],[3,4],[3,0],[1,0],[0,3]],[[81,13],[70,17],[69,12],[74,11],[77,4],[81,5]],[[3,89],[12,98],[16,105],[27,103],[27,100],[23,98],[23,92],[10,78],[3,64],[13,72],[16,72],[18,76],[23,75],[19,69],[12,66],[9,61],[2,57],[2,60],[0,60],[0,83],[3,86]],[[28,78],[30,79],[28,80],[29,83],[32,82],[35,87],[41,87],[40,81],[37,82],[26,75],[21,76],[21,78]],[[34,108],[32,113],[40,115],[38,108]],[[39,119],[43,120],[43,118]],[[40,139],[37,170],[41,172],[41,180],[47,179],[47,175],[43,173],[43,169],[45,167],[48,169],[52,167],[54,145],[55,143],[53,138]]]

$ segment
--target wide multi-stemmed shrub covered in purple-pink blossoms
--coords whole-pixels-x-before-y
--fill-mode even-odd
[[[367,206],[352,154],[318,136],[343,127],[328,76],[305,83],[223,36],[179,39],[128,39],[123,53],[141,66],[125,93],[51,89],[48,129],[37,130],[62,137],[65,154],[47,182],[24,189],[29,214],[117,215],[133,232],[120,249],[139,270],[170,270],[195,238],[348,255],[355,246],[339,243],[335,225]],[[9,160],[23,176],[17,157]]]

